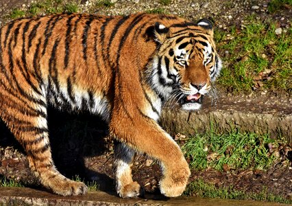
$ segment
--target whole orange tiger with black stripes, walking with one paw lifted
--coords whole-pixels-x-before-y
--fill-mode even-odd
[[[169,99],[196,111],[219,76],[221,59],[208,19],[171,14],[51,14],[16,19],[0,30],[0,117],[23,146],[43,187],[86,194],[53,163],[47,108],[100,115],[114,150],[122,198],[143,195],[132,179],[136,153],[155,159],[164,196],[180,196],[191,175],[182,150],[158,123]]]

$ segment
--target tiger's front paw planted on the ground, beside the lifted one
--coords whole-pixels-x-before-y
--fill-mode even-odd
[[[122,198],[134,198],[144,194],[144,190],[136,181],[121,187],[117,191]]]

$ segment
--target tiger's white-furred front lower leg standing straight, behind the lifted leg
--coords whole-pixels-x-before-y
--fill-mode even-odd
[[[134,163],[135,151],[123,143],[114,149],[114,169],[116,179],[116,190],[122,198],[132,198],[143,195],[141,185],[132,179],[132,165]]]

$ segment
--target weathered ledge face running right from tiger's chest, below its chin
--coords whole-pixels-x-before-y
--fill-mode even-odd
[[[169,133],[193,135],[210,130],[210,122],[221,132],[240,128],[243,132],[278,135],[292,142],[292,115],[276,115],[241,111],[204,111],[188,113],[179,109],[165,109],[161,124]]]

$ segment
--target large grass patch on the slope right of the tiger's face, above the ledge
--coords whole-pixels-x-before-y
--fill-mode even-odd
[[[219,84],[233,93],[262,90],[292,92],[292,29],[277,35],[276,22],[262,23],[249,17],[249,24],[229,32],[215,31],[223,52]]]

